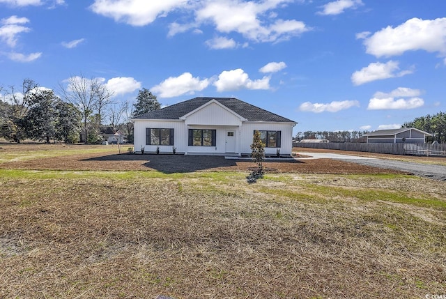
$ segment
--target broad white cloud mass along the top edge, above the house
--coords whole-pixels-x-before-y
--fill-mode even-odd
[[[212,24],[220,33],[240,33],[256,42],[287,40],[312,30],[298,20],[282,20],[274,10],[291,0],[95,0],[90,6],[94,13],[112,17],[116,22],[132,26],[145,26],[172,11],[180,11],[183,17],[194,18],[189,24],[174,22],[169,25],[168,36],[197,29],[202,24]]]

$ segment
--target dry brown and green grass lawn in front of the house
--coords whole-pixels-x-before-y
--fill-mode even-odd
[[[14,169],[116,148],[2,147],[0,298],[446,293],[445,182],[382,171],[249,184],[243,170]]]

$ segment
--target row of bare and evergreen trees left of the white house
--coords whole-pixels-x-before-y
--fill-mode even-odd
[[[0,137],[17,142],[63,141],[100,143],[101,128],[121,130],[133,141],[131,118],[160,109],[156,95],[140,89],[136,102],[114,102],[114,93],[100,79],[71,77],[60,91],[41,88],[33,79],[24,79],[20,89],[0,86]]]

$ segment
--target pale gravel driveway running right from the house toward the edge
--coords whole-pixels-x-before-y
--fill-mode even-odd
[[[302,155],[312,156],[313,159],[330,158],[334,160],[342,160],[347,162],[354,162],[357,164],[380,167],[384,169],[396,169],[399,171],[406,171],[415,176],[424,178],[432,178],[438,181],[446,181],[446,166],[436,164],[423,164],[415,162],[403,162],[397,160],[387,160],[378,158],[365,158],[354,155],[341,155],[334,153],[302,153]]]

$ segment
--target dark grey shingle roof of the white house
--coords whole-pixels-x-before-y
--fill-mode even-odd
[[[182,116],[185,116],[185,114],[194,111],[211,100],[216,100],[228,109],[236,112],[236,114],[246,118],[247,121],[295,123],[295,121],[291,121],[289,118],[268,112],[236,98],[193,98],[191,100],[185,100],[184,102],[179,102],[178,104],[167,106],[153,112],[147,112],[146,114],[135,116],[134,119],[180,119]]]

